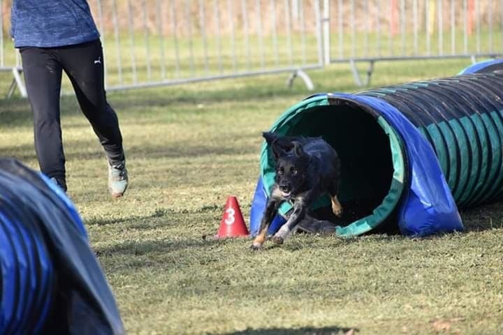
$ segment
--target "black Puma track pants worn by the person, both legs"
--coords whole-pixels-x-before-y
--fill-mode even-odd
[[[124,160],[117,114],[108,105],[100,40],[66,47],[20,48],[24,81],[34,114],[35,149],[41,172],[66,184],[59,96],[64,70],[78,103],[110,163]]]

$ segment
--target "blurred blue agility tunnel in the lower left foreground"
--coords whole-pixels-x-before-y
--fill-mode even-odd
[[[0,158],[0,334],[124,334],[87,233],[61,189]]]

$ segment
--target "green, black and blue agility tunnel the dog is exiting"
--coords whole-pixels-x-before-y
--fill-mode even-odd
[[[275,122],[278,135],[321,136],[342,163],[335,234],[384,228],[426,236],[463,229],[459,208],[503,198],[503,60],[469,66],[454,77],[316,94]],[[275,161],[267,143],[250,212],[257,234]],[[330,204],[316,201],[316,212]],[[286,221],[284,203],[269,234]],[[335,218],[335,219],[334,219]]]

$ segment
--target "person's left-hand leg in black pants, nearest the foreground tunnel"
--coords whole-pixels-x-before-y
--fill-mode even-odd
[[[24,81],[34,114],[35,149],[41,172],[57,179],[66,191],[65,158],[61,141],[59,94],[61,65],[47,49],[20,49]]]

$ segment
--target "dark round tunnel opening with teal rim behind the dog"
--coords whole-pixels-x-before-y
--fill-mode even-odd
[[[404,151],[400,138],[379,114],[364,105],[330,98],[286,112],[273,130],[278,135],[322,137],[340,156],[338,198],[344,212],[332,214],[328,195],[313,204],[312,216],[339,226],[337,234],[398,232],[395,215],[404,183]],[[274,182],[274,158],[264,147],[265,189]],[[289,215],[291,204],[280,212]]]

